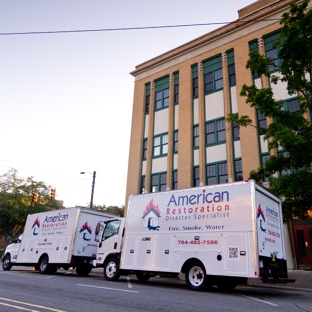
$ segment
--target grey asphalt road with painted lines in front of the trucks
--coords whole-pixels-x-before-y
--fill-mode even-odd
[[[134,276],[117,282],[104,280],[102,271],[79,277],[59,270],[41,275],[13,267],[0,270],[0,311],[311,311],[311,293],[286,289],[239,286],[233,292],[195,292],[183,280],[153,278],[147,283]]]

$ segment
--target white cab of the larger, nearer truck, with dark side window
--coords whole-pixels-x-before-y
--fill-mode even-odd
[[[103,264],[107,255],[121,252],[124,219],[105,221],[103,236],[98,247],[96,264]]]

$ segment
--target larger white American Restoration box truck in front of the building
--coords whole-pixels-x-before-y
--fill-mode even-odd
[[[253,180],[130,196],[126,219],[105,224],[94,266],[108,281],[185,273],[192,290],[294,281],[281,200]]]

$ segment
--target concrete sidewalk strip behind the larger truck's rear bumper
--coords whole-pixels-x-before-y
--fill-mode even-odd
[[[289,270],[288,278],[295,279],[294,283],[288,284],[268,284],[262,283],[260,279],[248,279],[248,285],[254,287],[278,288],[297,291],[312,292],[312,270]]]

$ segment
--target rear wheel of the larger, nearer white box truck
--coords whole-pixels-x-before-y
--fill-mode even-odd
[[[186,270],[185,280],[192,290],[205,289],[208,278],[204,265],[199,261],[191,263]]]

